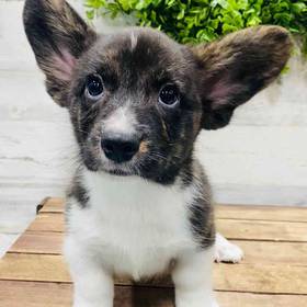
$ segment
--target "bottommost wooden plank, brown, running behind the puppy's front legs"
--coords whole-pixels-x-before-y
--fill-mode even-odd
[[[44,302],[44,307],[71,307],[71,292],[70,284],[0,281],[0,305],[1,307],[41,307]],[[216,296],[223,307],[307,306],[306,295],[217,292]],[[172,289],[116,286],[114,307],[154,307],[157,297],[160,299],[159,307],[173,307]]]

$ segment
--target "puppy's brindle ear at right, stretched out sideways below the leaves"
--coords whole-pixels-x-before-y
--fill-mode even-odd
[[[280,26],[250,27],[193,47],[201,69],[203,128],[226,126],[238,105],[280,75],[291,47],[288,33]]]

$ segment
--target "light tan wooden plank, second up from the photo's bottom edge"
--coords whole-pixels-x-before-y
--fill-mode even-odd
[[[289,264],[216,264],[214,268],[215,289],[219,291],[307,294],[306,276],[306,266]],[[71,282],[60,255],[19,253],[9,253],[0,262],[0,280]]]

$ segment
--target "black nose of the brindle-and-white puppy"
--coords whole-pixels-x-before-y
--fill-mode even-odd
[[[139,140],[126,140],[122,138],[104,138],[101,148],[107,159],[122,163],[129,161],[139,149]]]

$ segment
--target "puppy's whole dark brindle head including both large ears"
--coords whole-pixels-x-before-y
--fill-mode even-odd
[[[26,0],[24,24],[86,167],[164,183],[191,160],[200,130],[226,126],[278,76],[291,49],[277,26],[196,47],[150,29],[98,35],[62,0]]]

